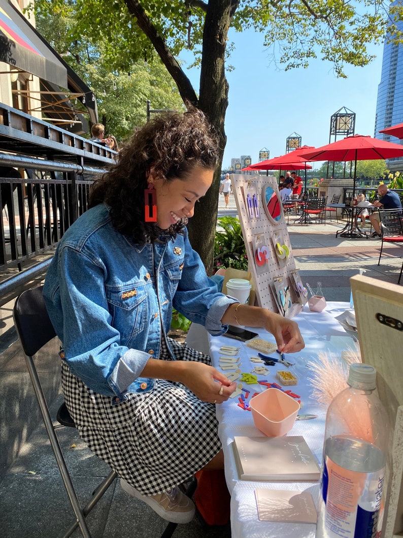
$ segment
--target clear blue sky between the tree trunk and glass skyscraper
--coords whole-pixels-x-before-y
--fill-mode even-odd
[[[311,61],[307,69],[278,70],[269,62],[263,36],[253,31],[232,31],[229,41],[236,48],[229,60],[235,69],[227,73],[224,168],[241,155],[257,162],[263,147],[270,158],[284,154],[286,138],[293,132],[302,137],[303,145],[327,144],[330,116],[342,107],[356,113],[355,134],[373,136],[382,45],[369,47],[377,55],[369,66],[347,66],[348,78],[337,79],[333,66],[320,59]],[[196,69],[187,73],[198,91],[199,73]]]

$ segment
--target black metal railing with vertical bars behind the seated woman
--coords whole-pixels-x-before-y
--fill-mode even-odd
[[[0,305],[44,274],[116,152],[0,103]]]

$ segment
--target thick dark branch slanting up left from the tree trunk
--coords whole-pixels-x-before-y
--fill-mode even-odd
[[[183,102],[190,102],[193,105],[197,105],[198,98],[192,84],[190,83],[190,80],[185,75],[181,66],[165,44],[165,41],[146,15],[146,12],[140,5],[140,2],[138,0],[125,0],[125,3],[129,13],[136,17],[137,25],[139,26],[140,30],[142,30],[151,41],[164,66],[168,69],[172,79],[174,79]]]

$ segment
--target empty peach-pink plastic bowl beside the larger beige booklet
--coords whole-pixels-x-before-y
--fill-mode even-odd
[[[294,426],[297,400],[278,388],[268,388],[249,402],[256,428],[268,437],[285,435]]]

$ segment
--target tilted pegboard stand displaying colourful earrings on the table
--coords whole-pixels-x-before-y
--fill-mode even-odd
[[[255,304],[291,318],[301,312],[306,300],[295,289],[294,275],[299,281],[300,279],[279,199],[277,180],[274,176],[232,174],[231,181],[249,260],[248,270],[255,285]],[[270,218],[267,214],[269,210],[264,193],[268,187],[277,194],[277,198],[272,199],[274,207],[271,208],[275,218]],[[287,249],[289,254],[282,258]],[[287,299],[286,308],[282,312],[274,288],[285,284],[289,286],[290,299]]]

